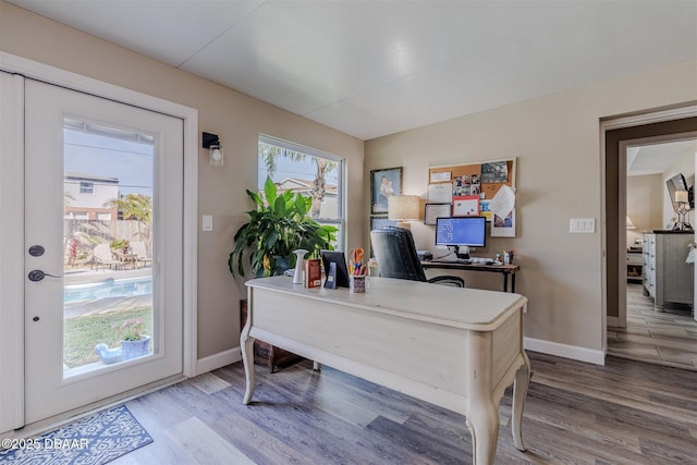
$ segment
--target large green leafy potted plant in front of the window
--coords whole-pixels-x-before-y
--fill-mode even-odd
[[[228,265],[230,272],[244,276],[244,255],[249,254],[249,265],[255,277],[281,274],[295,266],[293,250],[304,248],[310,256],[321,249],[332,250],[337,241],[337,228],[322,225],[307,217],[311,198],[286,191],[278,194],[271,178],[267,178],[261,196],[247,189],[247,196],[257,208],[248,211],[249,221],[234,235],[234,248]]]

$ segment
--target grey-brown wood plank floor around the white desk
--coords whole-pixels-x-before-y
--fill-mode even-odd
[[[695,463],[695,372],[529,356],[528,451],[513,445],[509,391],[497,464]],[[113,464],[472,463],[461,415],[309,362],[256,376],[248,406],[241,363],[127,402],[155,442]]]

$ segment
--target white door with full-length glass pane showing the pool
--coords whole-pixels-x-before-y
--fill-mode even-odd
[[[183,371],[183,139],[179,118],[25,81],[26,424]]]

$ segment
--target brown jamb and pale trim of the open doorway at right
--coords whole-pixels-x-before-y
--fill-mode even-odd
[[[603,123],[604,135],[604,222],[606,222],[606,308],[607,335],[616,334],[612,328],[626,327],[627,305],[627,211],[626,211],[626,159],[624,148],[632,140],[686,138],[697,131],[695,107],[657,112],[643,117],[617,119]],[[623,148],[624,146],[624,148]],[[693,162],[694,163],[694,162]],[[694,166],[693,166],[694,169]],[[664,184],[664,183],[663,183]],[[662,191],[661,191],[662,193]],[[629,284],[638,285],[641,284]],[[640,289],[640,287],[639,287]],[[607,343],[607,338],[606,338]],[[611,351],[608,351],[611,353]],[[640,351],[639,351],[640,352]],[[637,358],[641,359],[640,356]],[[644,357],[651,362],[650,357]]]

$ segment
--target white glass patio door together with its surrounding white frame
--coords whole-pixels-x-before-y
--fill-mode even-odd
[[[195,375],[198,137],[197,114],[191,108],[7,53],[0,56],[0,369],[5,375],[0,378],[0,432],[10,432],[45,418],[41,424],[51,424],[114,402],[144,386]],[[76,143],[77,133],[83,142],[89,137],[91,142]],[[107,145],[95,143],[95,137]],[[121,161],[133,168],[132,172],[149,176],[150,182],[129,184],[151,189],[150,219],[112,201],[127,197],[125,189],[119,192],[126,186],[110,173],[94,171],[105,163],[95,157],[97,151],[108,150],[109,142],[123,144],[126,139],[137,139],[140,148],[149,147],[139,155],[149,170],[131,166],[133,160]],[[66,154],[69,144],[86,148],[91,164],[82,160],[75,170]],[[120,157],[130,156],[127,151],[112,150]],[[117,195],[97,199],[101,187],[110,184],[119,185]],[[77,201],[81,194],[98,200],[93,201],[91,211],[81,211],[85,209]],[[131,221],[133,228],[106,228],[114,216],[117,221]],[[90,232],[78,231],[75,223],[80,222]],[[103,231],[94,231],[98,224]],[[115,256],[119,249],[112,242],[126,238],[119,237],[125,234],[131,244],[121,248],[122,257]],[[72,241],[77,237],[78,242]],[[144,252],[138,252],[138,242],[144,243]],[[97,243],[108,245],[112,262],[95,259]],[[99,280],[87,277],[80,283],[69,282],[78,273]],[[143,274],[139,278],[149,283],[133,282],[125,276],[133,273]],[[94,287],[105,283],[109,284],[109,296],[105,289],[97,296]],[[114,295],[114,289],[127,295]],[[94,352],[95,341],[87,341],[82,350],[93,354],[78,363],[66,363],[70,350],[81,344],[69,340],[66,320],[75,315],[66,311],[65,304],[82,299],[103,308],[113,303],[112,297],[137,297],[137,307],[146,308],[133,318],[147,326],[150,339],[146,352],[133,357],[124,357],[122,352],[119,358],[103,359]],[[133,328],[130,325],[126,327]],[[111,326],[108,330],[113,332]],[[111,354],[121,350],[105,342],[114,351]]]

